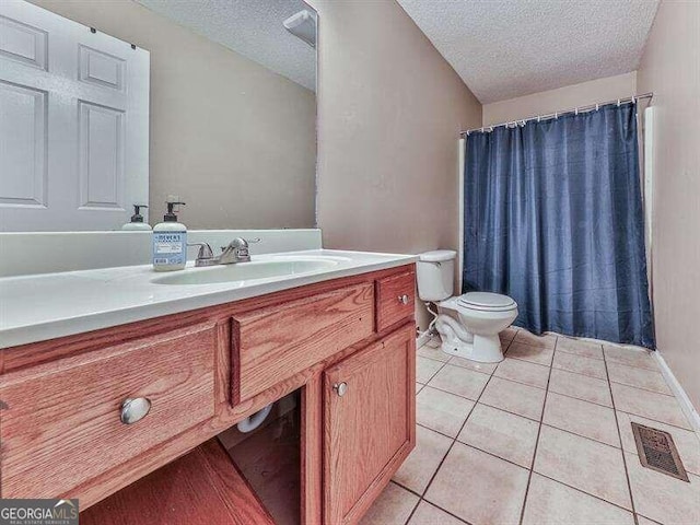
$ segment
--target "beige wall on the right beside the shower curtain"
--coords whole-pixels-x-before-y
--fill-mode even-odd
[[[638,72],[653,91],[658,350],[700,407],[700,2],[663,0]]]

